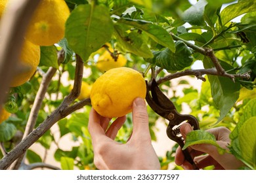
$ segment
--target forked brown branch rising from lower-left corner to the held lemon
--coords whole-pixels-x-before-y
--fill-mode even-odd
[[[70,104],[79,96],[81,90],[81,80],[83,78],[83,61],[77,55],[75,67],[75,82],[74,88],[70,94],[64,98],[62,103],[47,119],[25,137],[16,147],[14,147],[9,154],[0,160],[0,169],[7,169],[15,159],[19,158],[35,143],[47,130],[49,130],[56,122],[68,116],[71,112],[82,108],[83,105],[88,105],[90,100],[83,100],[70,107]],[[76,91],[78,90],[78,92]],[[82,105],[83,104],[83,105]]]

